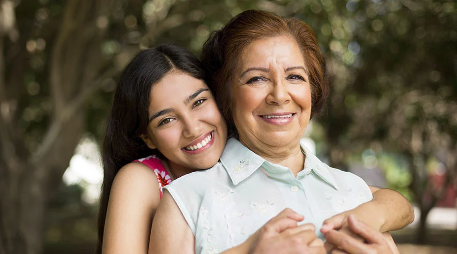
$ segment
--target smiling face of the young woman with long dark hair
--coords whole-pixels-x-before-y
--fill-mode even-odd
[[[149,125],[142,138],[169,161],[192,170],[219,160],[227,126],[202,80],[178,71],[152,85]]]

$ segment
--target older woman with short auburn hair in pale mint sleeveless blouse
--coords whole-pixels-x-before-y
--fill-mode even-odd
[[[286,207],[319,228],[325,219],[372,199],[361,178],[322,163],[300,143],[329,92],[324,60],[308,25],[267,12],[243,12],[207,41],[203,62],[236,138],[228,140],[213,168],[166,187],[150,251],[219,252],[241,244]],[[385,210],[379,218],[351,212],[380,231],[410,222],[395,218],[386,224]],[[272,228],[297,233],[269,226],[259,237]],[[304,240],[311,241],[312,236]]]

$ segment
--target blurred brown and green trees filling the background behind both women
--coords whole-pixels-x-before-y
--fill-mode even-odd
[[[0,253],[90,251],[96,205],[62,175],[84,135],[101,141],[120,72],[160,43],[198,54],[247,9],[314,29],[333,85],[318,153],[345,170],[360,154],[377,162],[417,202],[424,243],[428,212],[457,185],[454,1],[0,0]]]

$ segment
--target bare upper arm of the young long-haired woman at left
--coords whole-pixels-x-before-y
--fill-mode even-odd
[[[139,162],[122,167],[111,186],[102,253],[147,253],[159,202],[153,170]]]

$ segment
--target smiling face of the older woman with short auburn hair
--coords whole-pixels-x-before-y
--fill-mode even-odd
[[[311,90],[302,52],[288,36],[248,45],[232,84],[232,112],[248,147],[298,144],[311,114]]]

